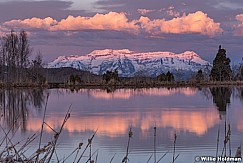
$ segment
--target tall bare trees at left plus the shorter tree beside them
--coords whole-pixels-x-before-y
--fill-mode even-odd
[[[0,81],[5,84],[43,82],[39,70],[42,67],[41,53],[30,61],[33,52],[25,31],[11,31],[1,37]]]

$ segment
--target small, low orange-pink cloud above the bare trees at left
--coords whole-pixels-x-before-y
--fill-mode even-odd
[[[11,20],[3,23],[4,26],[9,28],[40,28],[40,29],[49,29],[51,26],[56,25],[57,21],[53,18],[47,17],[45,19],[40,18],[31,18],[25,20]]]

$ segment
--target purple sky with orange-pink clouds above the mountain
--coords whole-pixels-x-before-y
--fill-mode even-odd
[[[25,30],[45,62],[99,49],[243,57],[243,1],[0,0],[0,35]]]

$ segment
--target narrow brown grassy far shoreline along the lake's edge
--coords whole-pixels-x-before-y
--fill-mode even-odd
[[[136,88],[160,88],[160,87],[243,87],[243,81],[174,81],[174,82],[151,82],[151,83],[79,83],[79,84],[67,84],[67,83],[0,83],[0,88],[64,88],[64,89],[136,89]]]

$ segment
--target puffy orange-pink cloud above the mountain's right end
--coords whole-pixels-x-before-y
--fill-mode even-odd
[[[161,33],[198,33],[207,36],[214,36],[223,32],[220,23],[215,23],[213,19],[208,17],[202,11],[183,15],[182,17],[173,18],[171,20],[154,19],[148,17],[140,17],[141,27],[148,33],[157,35]]]

